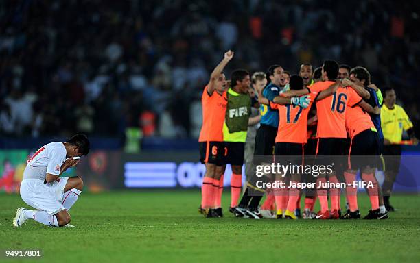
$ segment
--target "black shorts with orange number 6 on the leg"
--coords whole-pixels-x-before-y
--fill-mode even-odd
[[[226,149],[223,142],[198,142],[200,145],[201,164],[215,164],[222,166],[225,164]]]

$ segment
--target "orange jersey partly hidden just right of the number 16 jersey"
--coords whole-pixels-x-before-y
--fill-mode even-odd
[[[349,107],[346,113],[346,129],[350,138],[360,134],[366,129],[375,129],[371,116],[362,110],[359,105]],[[375,129],[376,130],[376,129]]]

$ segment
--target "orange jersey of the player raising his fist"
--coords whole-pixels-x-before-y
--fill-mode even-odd
[[[202,127],[199,142],[222,142],[223,141],[223,123],[226,114],[227,98],[226,92],[220,95],[213,91],[212,95],[207,92],[207,86],[202,92]]]

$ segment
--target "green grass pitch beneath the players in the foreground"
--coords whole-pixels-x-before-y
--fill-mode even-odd
[[[3,193],[0,249],[42,249],[31,262],[420,262],[418,195],[393,197],[399,210],[384,221],[234,218],[229,195],[224,218],[203,218],[198,190],[84,192],[70,210],[72,229],[12,227],[14,210],[27,205]],[[359,203],[364,216],[369,199]]]

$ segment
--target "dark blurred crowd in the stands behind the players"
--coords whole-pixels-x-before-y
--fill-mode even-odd
[[[327,58],[366,66],[419,127],[418,10],[388,0],[0,1],[0,135],[139,127],[197,138],[202,89],[227,49],[228,76]]]

